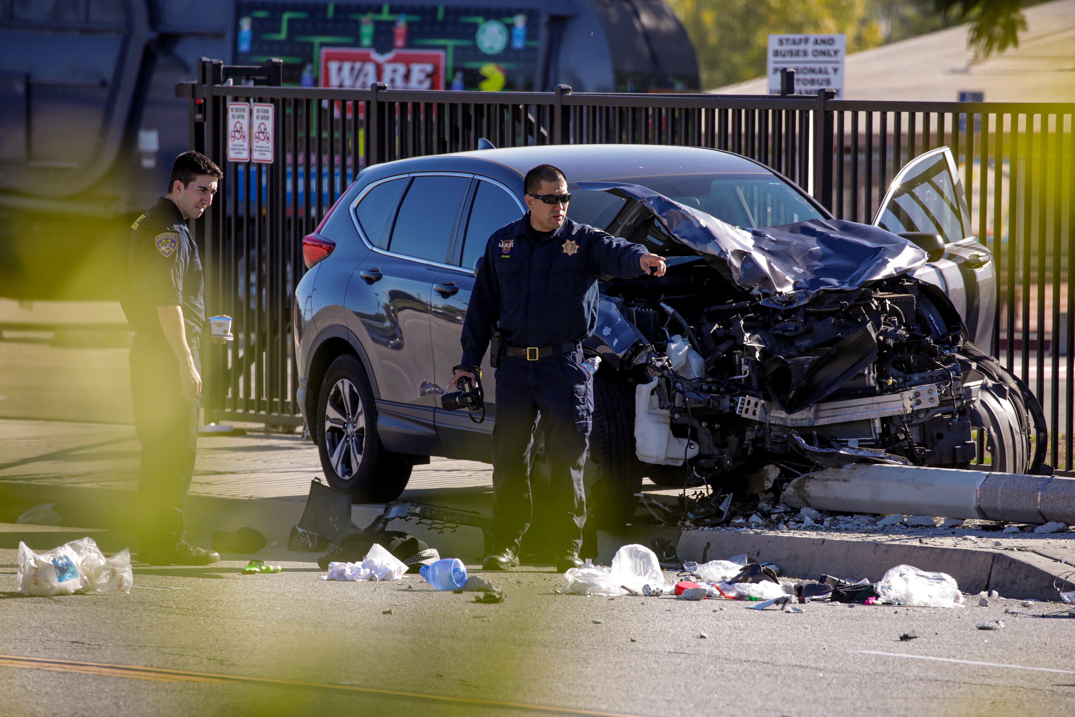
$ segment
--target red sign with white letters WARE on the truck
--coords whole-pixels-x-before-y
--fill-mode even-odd
[[[444,89],[444,51],[393,49],[379,55],[361,47],[321,48],[321,87]]]

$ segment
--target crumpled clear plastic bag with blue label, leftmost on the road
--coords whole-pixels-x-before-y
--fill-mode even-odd
[[[134,583],[130,550],[104,557],[91,537],[80,537],[58,548],[34,553],[18,544],[19,589],[28,596],[69,596],[121,590],[130,593]]]

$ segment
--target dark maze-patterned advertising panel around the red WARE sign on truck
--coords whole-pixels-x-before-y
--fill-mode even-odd
[[[540,6],[484,2],[236,0],[233,62],[282,58],[303,87],[533,90]]]

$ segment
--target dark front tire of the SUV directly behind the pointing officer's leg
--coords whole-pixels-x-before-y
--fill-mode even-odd
[[[593,376],[593,429],[587,461],[587,522],[599,530],[634,516],[642,461],[634,453],[634,390],[608,371]]]

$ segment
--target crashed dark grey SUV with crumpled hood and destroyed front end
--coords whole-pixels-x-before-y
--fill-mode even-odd
[[[370,168],[307,238],[301,393],[336,487],[390,500],[427,456],[489,461],[488,358],[485,422],[440,396],[474,261],[522,214],[522,176],[542,162],[567,173],[569,216],[669,258],[663,277],[600,283],[584,344],[603,359],[587,467],[597,520],[631,515],[644,475],[727,492],[764,464],[1041,468],[1037,401],[979,348],[995,272],[947,149],[909,162],[862,225],[731,153],[568,145]]]

